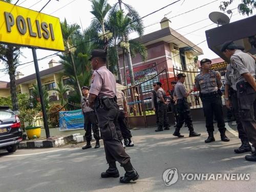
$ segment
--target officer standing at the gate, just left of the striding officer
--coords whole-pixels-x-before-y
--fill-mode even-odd
[[[166,94],[165,91],[161,88],[162,83],[156,82],[156,89],[157,89],[157,105],[158,105],[158,127],[156,132],[169,130],[169,119],[167,114],[168,103],[166,101]]]

